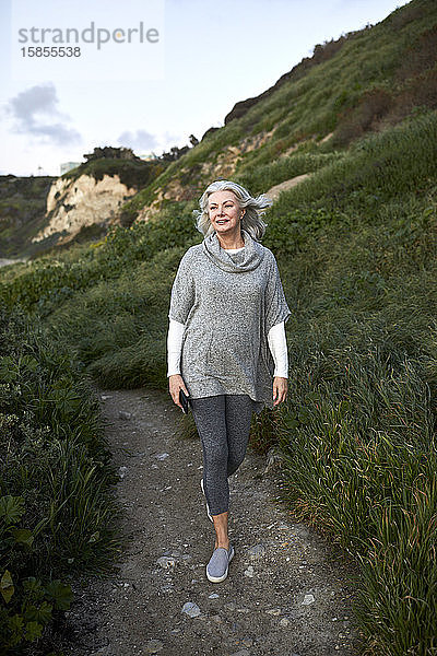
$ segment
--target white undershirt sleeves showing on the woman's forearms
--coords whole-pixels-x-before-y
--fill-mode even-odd
[[[180,354],[185,325],[169,319],[167,335],[168,376],[180,374]],[[285,338],[284,321],[273,326],[267,336],[269,349],[274,362],[274,376],[288,377],[288,353]]]

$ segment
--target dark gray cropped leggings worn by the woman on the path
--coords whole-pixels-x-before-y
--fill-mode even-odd
[[[191,399],[202,442],[203,488],[211,515],[229,508],[227,477],[237,471],[246,455],[255,401],[247,394]]]

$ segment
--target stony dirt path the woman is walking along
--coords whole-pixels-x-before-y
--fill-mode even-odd
[[[70,654],[352,656],[345,565],[277,503],[264,459],[249,452],[232,479],[236,555],[228,578],[210,583],[199,442],[175,435],[179,410],[166,395],[101,395],[130,542],[115,578],[78,591]]]

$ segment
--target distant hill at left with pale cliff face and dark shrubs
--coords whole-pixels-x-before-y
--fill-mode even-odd
[[[35,257],[104,236],[121,221],[126,200],[166,166],[122,148],[96,148],[84,157],[58,178],[0,176],[0,257]]]

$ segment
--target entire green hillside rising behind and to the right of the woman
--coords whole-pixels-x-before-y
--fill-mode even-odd
[[[197,199],[216,177],[275,187],[263,244],[292,308],[290,395],[251,441],[280,450],[294,516],[359,566],[371,656],[437,649],[436,39],[436,2],[413,0],[317,47],[128,200],[130,227],[0,272],[4,304],[101,386],[165,390]]]

